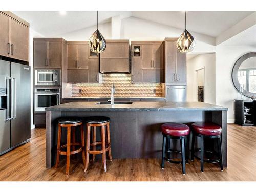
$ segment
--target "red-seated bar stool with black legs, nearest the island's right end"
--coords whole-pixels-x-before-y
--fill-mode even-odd
[[[201,162],[201,172],[204,171],[204,162],[208,163],[220,163],[221,170],[223,171],[223,159],[222,159],[222,143],[221,143],[221,126],[211,123],[211,122],[195,122],[191,124],[192,127],[192,150],[191,150],[191,161],[194,160],[195,156],[195,139],[196,136],[200,137],[200,162]],[[218,151],[219,159],[217,160],[207,160],[204,159],[204,139],[217,139],[218,142]],[[199,149],[198,149],[199,150]],[[209,153],[214,154],[214,151],[208,151]],[[197,156],[195,156],[197,157]]]

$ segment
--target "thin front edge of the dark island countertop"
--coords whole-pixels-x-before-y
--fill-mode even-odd
[[[227,108],[46,108],[46,111],[227,111]]]

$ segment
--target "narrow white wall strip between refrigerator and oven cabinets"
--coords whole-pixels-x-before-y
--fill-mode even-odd
[[[31,129],[33,129],[35,126],[33,125],[33,106],[34,106],[34,65],[33,65],[33,38],[34,37],[44,37],[42,36],[40,33],[37,33],[36,31],[34,31],[32,28],[29,28],[29,65],[30,65],[30,78],[31,78],[31,84],[30,84],[30,88],[31,88]]]

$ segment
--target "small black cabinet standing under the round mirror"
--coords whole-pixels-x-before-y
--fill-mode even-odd
[[[235,123],[242,126],[255,126],[256,101],[235,100]],[[248,109],[248,111],[246,111]]]

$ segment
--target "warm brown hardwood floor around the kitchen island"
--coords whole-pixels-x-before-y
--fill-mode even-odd
[[[31,131],[31,141],[0,156],[0,181],[256,181],[256,127],[228,124],[228,168],[220,171],[217,164],[200,162],[186,164],[186,175],[180,164],[160,159],[113,159],[107,161],[104,173],[102,161],[90,161],[83,172],[82,160],[71,160],[70,175],[66,176],[66,159],[59,168],[45,168],[45,129]]]

